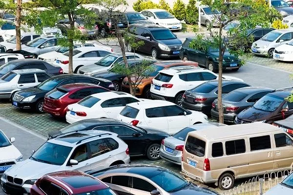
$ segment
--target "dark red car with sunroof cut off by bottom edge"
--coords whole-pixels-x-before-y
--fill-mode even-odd
[[[61,171],[42,176],[31,195],[117,195],[99,179],[80,171]]]

